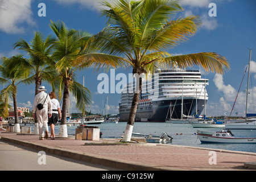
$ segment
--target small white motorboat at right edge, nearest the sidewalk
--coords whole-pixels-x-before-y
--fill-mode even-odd
[[[256,138],[234,137],[231,130],[222,130],[216,133],[197,130],[197,138],[200,139],[201,143],[256,143]]]

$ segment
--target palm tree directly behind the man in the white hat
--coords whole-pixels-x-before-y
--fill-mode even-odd
[[[48,35],[46,39],[41,32],[35,32],[35,36],[31,43],[28,44],[26,40],[20,38],[14,43],[14,49],[18,48],[27,52],[30,56],[29,60],[23,59],[23,66],[26,66],[32,70],[32,75],[27,78],[27,81],[32,83],[35,82],[35,96],[39,93],[39,86],[42,81],[52,83],[52,78],[55,77],[54,62],[51,60],[52,45],[55,42],[55,38]],[[38,134],[38,121],[35,118],[35,134]]]

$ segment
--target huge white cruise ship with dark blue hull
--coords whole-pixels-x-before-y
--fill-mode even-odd
[[[199,70],[172,68],[158,70],[143,79],[135,122],[166,122],[183,116],[200,115],[208,100],[206,86]],[[127,122],[135,91],[135,80],[122,89],[119,121]],[[182,109],[182,111],[181,111]]]

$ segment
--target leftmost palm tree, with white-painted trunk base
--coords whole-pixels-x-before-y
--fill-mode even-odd
[[[18,92],[18,85],[20,83],[26,83],[26,78],[30,75],[29,69],[23,67],[22,65],[16,64],[17,62],[23,62],[23,55],[16,55],[10,58],[2,57],[0,65],[0,81],[2,84],[6,84],[6,88],[1,91],[5,102],[5,108],[8,108],[9,97],[13,97],[13,106],[14,106],[14,132],[19,133],[19,120],[18,120],[18,108],[16,94]]]

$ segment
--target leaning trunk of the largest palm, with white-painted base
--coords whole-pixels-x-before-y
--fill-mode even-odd
[[[131,109],[128,118],[128,122],[125,129],[125,134],[123,135],[123,142],[130,142],[131,141],[131,134],[133,133],[133,125],[135,121],[135,116],[137,113],[137,108],[139,104],[139,94],[141,94],[142,89],[142,78],[139,77],[139,90],[134,93],[133,102],[131,102]]]

